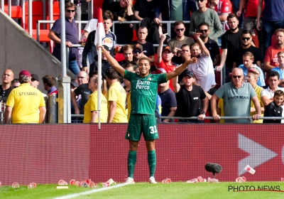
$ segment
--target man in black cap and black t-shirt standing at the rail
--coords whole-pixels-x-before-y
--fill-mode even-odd
[[[198,119],[180,119],[179,122],[204,123],[209,100],[200,86],[194,85],[195,76],[192,71],[183,72],[182,82],[178,83],[178,77],[173,78],[174,92],[178,108],[175,117],[198,117]]]

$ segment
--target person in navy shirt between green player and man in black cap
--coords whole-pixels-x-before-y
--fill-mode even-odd
[[[160,84],[160,100],[162,101],[162,113],[161,116],[174,117],[177,110],[177,100],[175,99],[175,92],[170,90],[169,81]],[[174,122],[173,119],[163,119],[163,122]]]

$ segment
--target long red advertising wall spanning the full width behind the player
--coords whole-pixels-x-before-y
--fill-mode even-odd
[[[235,181],[249,164],[256,173],[248,181],[280,181],[284,177],[281,124],[160,124],[156,141],[155,178],[187,181],[212,177],[207,162],[219,163],[219,181]],[[58,183],[92,178],[122,182],[127,178],[129,144],[126,124],[0,125],[0,181],[11,185]],[[138,149],[135,181],[148,181],[145,142]]]

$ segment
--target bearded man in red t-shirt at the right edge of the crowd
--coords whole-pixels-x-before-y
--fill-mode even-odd
[[[278,53],[284,50],[284,29],[278,28],[275,31],[276,45],[271,45],[267,48],[266,56],[264,57],[263,68],[266,72],[271,71],[271,69],[278,67]],[[266,82],[268,80],[268,75],[266,76]]]

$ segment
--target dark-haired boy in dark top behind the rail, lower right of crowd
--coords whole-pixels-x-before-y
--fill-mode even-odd
[[[284,92],[276,90],[274,92],[273,102],[266,107],[263,117],[282,117]],[[281,119],[263,119],[263,123],[281,123]]]

